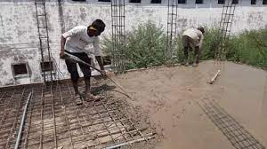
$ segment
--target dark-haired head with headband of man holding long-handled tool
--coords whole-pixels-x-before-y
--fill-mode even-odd
[[[105,30],[105,23],[102,20],[94,20],[93,23],[88,27],[89,36],[98,36]]]

